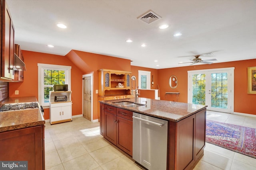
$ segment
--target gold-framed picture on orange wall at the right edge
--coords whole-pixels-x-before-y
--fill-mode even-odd
[[[248,67],[248,94],[256,94],[256,67]]]

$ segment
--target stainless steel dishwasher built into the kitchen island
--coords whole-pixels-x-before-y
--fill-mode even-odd
[[[133,113],[132,158],[148,170],[166,170],[168,121]]]

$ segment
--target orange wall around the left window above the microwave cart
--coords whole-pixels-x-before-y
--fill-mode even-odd
[[[22,51],[26,71],[24,71],[24,82],[10,82],[9,96],[24,97],[36,96],[38,99],[38,66],[37,63],[57,64],[71,66],[71,91],[72,91],[72,115],[82,114],[82,72],[67,57]],[[19,94],[15,95],[15,90]],[[49,109],[44,109],[44,118],[49,119]]]

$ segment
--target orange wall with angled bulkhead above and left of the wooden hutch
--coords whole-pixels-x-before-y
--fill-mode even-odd
[[[83,51],[71,50],[66,57],[72,61],[80,70],[82,74],[93,73],[93,119],[98,119],[98,70],[112,69],[112,70],[123,70],[130,71],[131,66],[130,60],[121,59],[117,57],[110,57],[106,55],[88,53]],[[81,76],[82,78],[82,76]],[[82,89],[81,94],[82,94]],[[82,101],[81,101],[82,102]]]

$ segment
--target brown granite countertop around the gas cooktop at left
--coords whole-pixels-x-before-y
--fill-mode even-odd
[[[7,98],[1,104],[37,102],[35,96]],[[38,108],[0,112],[0,132],[45,124]]]

